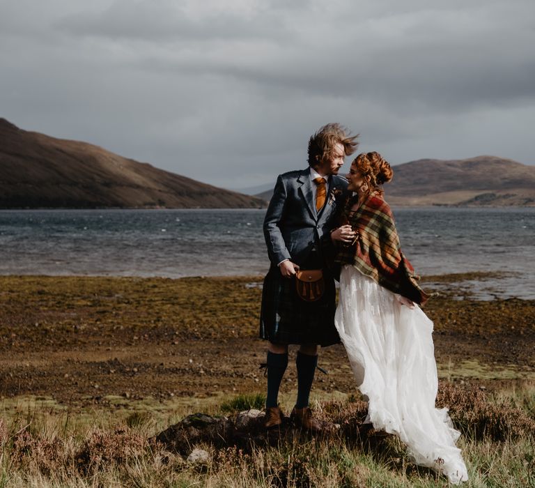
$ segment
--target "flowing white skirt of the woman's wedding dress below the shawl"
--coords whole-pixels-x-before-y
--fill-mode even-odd
[[[435,409],[437,367],[433,322],[418,305],[401,305],[353,266],[343,266],[336,328],[359,390],[369,397],[375,429],[397,434],[414,462],[444,473],[457,485],[468,480],[447,409]]]

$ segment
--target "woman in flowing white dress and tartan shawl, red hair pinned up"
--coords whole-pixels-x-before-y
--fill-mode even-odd
[[[401,252],[382,183],[393,171],[379,153],[362,153],[347,176],[353,192],[331,234],[341,264],[335,325],[359,390],[369,399],[367,422],[397,434],[417,464],[453,484],[468,475],[447,409],[435,409],[437,367],[433,322],[421,311],[428,295]]]

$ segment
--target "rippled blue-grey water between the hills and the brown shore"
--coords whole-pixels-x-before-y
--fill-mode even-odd
[[[535,299],[535,208],[395,208],[420,275],[493,272],[459,282],[472,298]],[[0,275],[259,276],[265,209],[4,210]],[[440,286],[440,284],[437,284]]]

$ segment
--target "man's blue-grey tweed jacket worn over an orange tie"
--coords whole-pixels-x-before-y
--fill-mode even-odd
[[[348,181],[331,175],[327,199],[316,211],[316,183],[310,168],[279,175],[264,219],[264,236],[271,265],[290,259],[303,266],[320,258],[322,242],[334,227],[336,207],[341,204]],[[323,261],[323,259],[321,259]]]

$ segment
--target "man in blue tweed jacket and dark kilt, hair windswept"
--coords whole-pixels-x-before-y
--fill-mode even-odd
[[[288,344],[300,344],[297,366],[297,401],[291,419],[303,429],[320,430],[312,418],[309,395],[318,364],[318,345],[340,342],[334,328],[335,289],[325,266],[325,247],[334,228],[336,207],[348,185],[337,176],[346,155],[355,152],[357,136],[338,123],[324,125],[309,140],[309,167],[279,175],[264,220],[267,254],[271,261],[262,293],[260,337],[267,348],[265,427],[278,427],[284,417],[277,398],[288,365]],[[319,282],[296,282],[300,270],[322,270]],[[316,280],[316,273],[304,273]],[[322,286],[318,283],[323,280]],[[309,288],[306,288],[306,287]],[[313,288],[310,288],[310,287]],[[297,289],[313,290],[306,299]],[[319,295],[319,298],[318,298]]]

